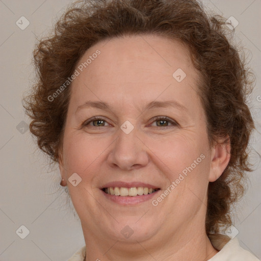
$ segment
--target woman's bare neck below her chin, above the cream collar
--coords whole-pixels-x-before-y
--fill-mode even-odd
[[[174,236],[165,234],[165,237],[161,235],[143,242],[133,240],[132,243],[126,243],[105,239],[97,234],[91,235],[90,231],[84,231],[84,234],[88,234],[85,238],[85,261],[206,261],[218,253],[206,236],[204,226],[195,230],[193,224],[187,225],[186,229],[175,231]]]

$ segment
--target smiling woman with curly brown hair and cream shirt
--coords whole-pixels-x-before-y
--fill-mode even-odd
[[[225,34],[194,0],[112,0],[70,7],[39,43],[25,108],[81,219],[70,261],[258,260],[220,234],[254,128]]]

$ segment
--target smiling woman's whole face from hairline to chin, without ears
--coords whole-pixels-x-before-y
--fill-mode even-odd
[[[75,69],[60,170],[85,237],[159,245],[203,229],[214,154],[188,49],[159,36],[113,38]]]

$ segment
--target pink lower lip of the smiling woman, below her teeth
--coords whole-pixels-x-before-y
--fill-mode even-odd
[[[136,205],[148,200],[151,200],[158,192],[161,190],[157,190],[151,194],[147,195],[139,195],[139,196],[115,196],[111,194],[105,193],[103,190],[101,190],[102,194],[105,195],[105,197],[115,203],[118,203],[120,205]]]

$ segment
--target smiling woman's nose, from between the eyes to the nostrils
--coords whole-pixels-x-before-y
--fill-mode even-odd
[[[132,170],[144,167],[149,162],[147,146],[134,127],[131,133],[126,134],[119,128],[118,138],[114,141],[108,156],[108,164],[121,170]]]

